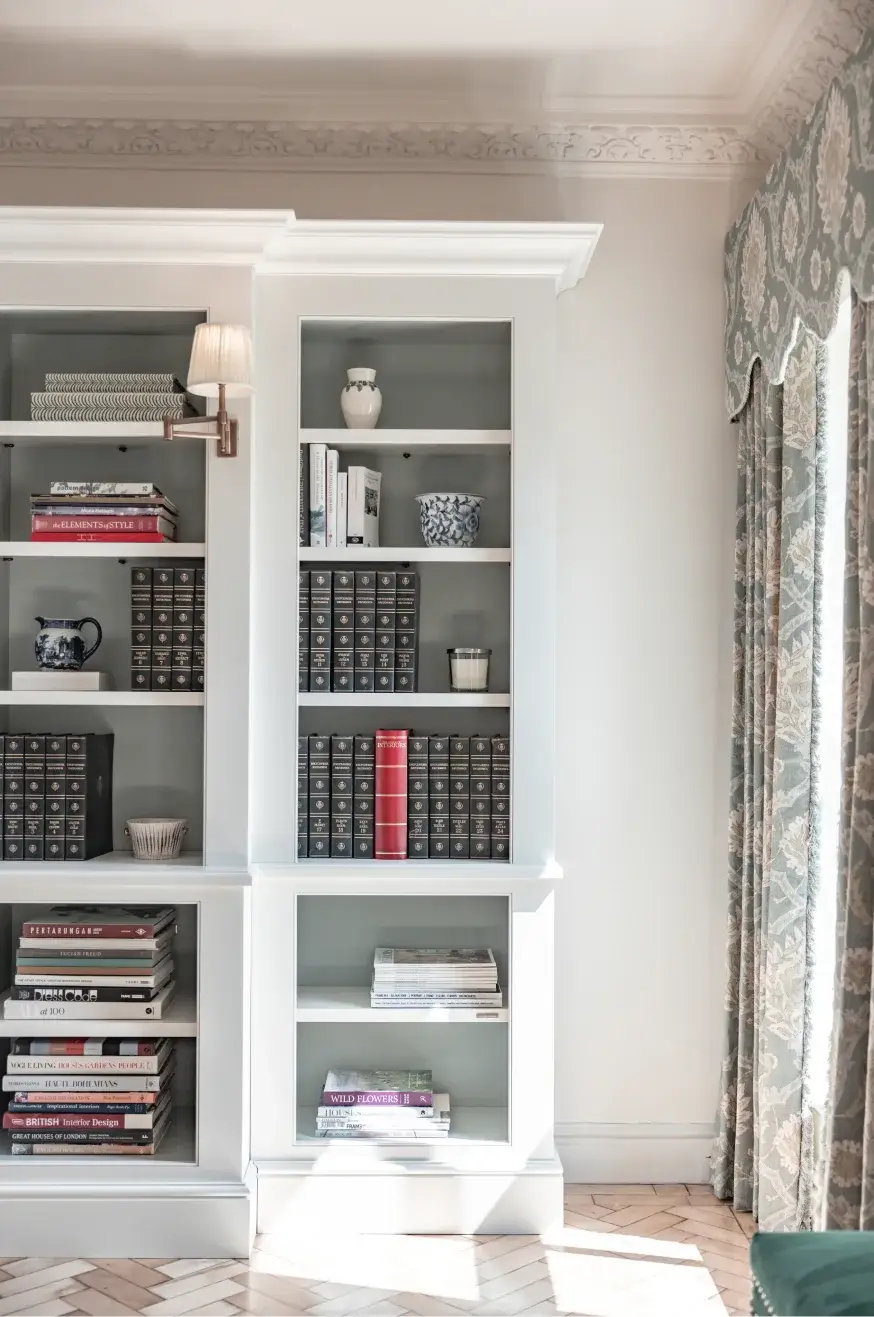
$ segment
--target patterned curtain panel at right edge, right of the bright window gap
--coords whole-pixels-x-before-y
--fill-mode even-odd
[[[874,306],[853,294],[846,441],[844,747],[836,1021],[825,1185],[832,1230],[874,1230]]]

